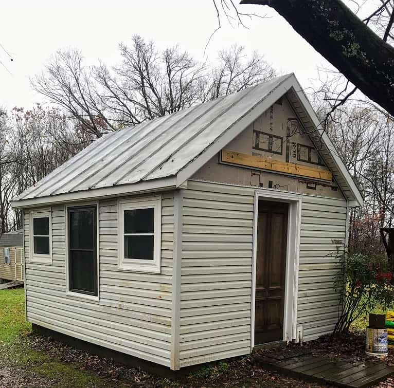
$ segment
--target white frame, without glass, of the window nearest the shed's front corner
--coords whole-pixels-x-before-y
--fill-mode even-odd
[[[153,260],[138,260],[124,257],[124,211],[154,209],[153,215]],[[160,273],[162,256],[162,196],[118,200],[118,269],[135,272]]]

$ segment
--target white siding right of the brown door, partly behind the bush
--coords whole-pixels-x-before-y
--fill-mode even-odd
[[[341,199],[302,197],[297,324],[304,341],[332,332],[338,320],[333,278],[345,247],[346,205]]]

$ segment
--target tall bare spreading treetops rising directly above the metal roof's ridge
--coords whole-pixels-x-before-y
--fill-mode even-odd
[[[119,51],[120,63],[109,67],[85,66],[78,50],[60,50],[31,84],[81,131],[100,137],[275,76],[262,56],[247,56],[242,46],[220,51],[213,64],[194,60],[178,46],[160,51],[139,35]]]

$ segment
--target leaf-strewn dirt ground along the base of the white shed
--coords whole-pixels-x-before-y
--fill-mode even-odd
[[[40,373],[45,363],[41,358],[23,358],[20,366],[15,366],[18,360],[11,364],[4,361],[5,353],[0,356],[0,388],[10,387],[62,387],[74,388],[81,386],[91,388],[101,387],[262,387],[262,388],[318,388],[322,385],[303,382],[296,379],[286,378],[275,372],[267,371],[261,367],[257,357],[250,355],[230,361],[223,361],[217,364],[202,366],[197,371],[179,380],[170,380],[162,377],[153,376],[136,368],[125,367],[114,363],[110,359],[99,358],[97,356],[71,348],[57,341],[28,335],[19,339],[14,345],[14,349],[9,352],[14,355],[15,350],[19,349],[20,354],[23,349],[31,354],[45,354],[53,365],[54,373]],[[0,349],[1,350],[1,349]],[[4,350],[4,349],[3,349]],[[7,352],[6,352],[7,353]],[[37,363],[40,363],[39,368]],[[59,370],[59,363],[66,366],[71,365],[75,368],[76,375],[85,375],[92,378],[64,379]],[[68,373],[65,370],[66,373]],[[97,380],[98,378],[98,380]],[[67,381],[68,380],[68,381]]]

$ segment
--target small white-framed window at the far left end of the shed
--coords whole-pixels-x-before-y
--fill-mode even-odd
[[[30,260],[39,263],[52,263],[50,210],[30,212]]]

